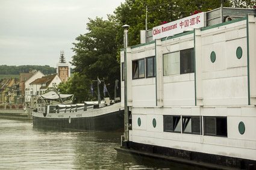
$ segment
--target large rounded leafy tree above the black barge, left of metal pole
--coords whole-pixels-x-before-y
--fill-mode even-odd
[[[90,90],[89,82],[99,77],[100,80],[109,84],[110,96],[114,96],[114,91],[111,89],[114,89],[115,80],[120,79],[120,65],[116,58],[117,29],[113,16],[108,16],[108,20],[102,20],[99,17],[95,20],[89,19],[87,29],[89,32],[78,36],[76,38],[78,43],[73,43],[75,47],[72,49],[75,55],[72,56],[72,65],[75,66],[76,76],[83,80],[84,83],[81,84],[86,90]]]

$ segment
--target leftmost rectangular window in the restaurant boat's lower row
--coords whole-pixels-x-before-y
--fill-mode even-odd
[[[164,132],[181,133],[181,117],[164,115]]]

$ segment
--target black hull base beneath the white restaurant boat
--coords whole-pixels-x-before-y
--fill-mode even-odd
[[[139,154],[140,156],[186,163],[188,165],[200,166],[207,169],[256,169],[255,160],[179,150],[131,141],[126,143],[123,142],[122,145],[125,147],[121,147],[120,149],[116,148],[116,150],[121,153]]]

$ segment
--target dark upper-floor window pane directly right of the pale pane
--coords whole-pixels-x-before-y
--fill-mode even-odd
[[[180,73],[194,73],[194,49],[180,51]]]

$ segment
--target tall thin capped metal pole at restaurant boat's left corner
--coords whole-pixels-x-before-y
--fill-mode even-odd
[[[125,116],[124,116],[124,137],[125,137],[125,147],[128,147],[128,141],[129,141],[129,111],[128,111],[128,106],[127,106],[127,61],[126,61],[126,47],[128,46],[128,28],[129,25],[123,25],[124,28],[123,31],[123,51],[124,51],[124,56],[125,56],[125,62],[124,62],[124,67],[125,67]]]

